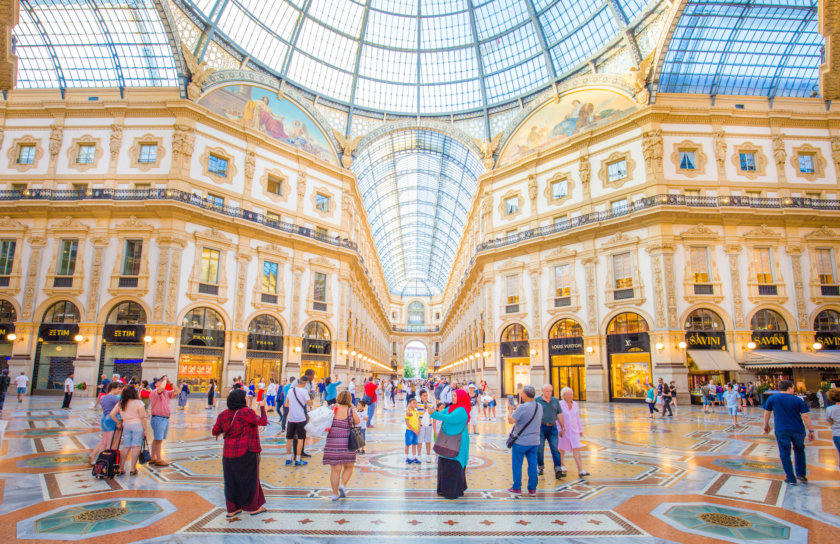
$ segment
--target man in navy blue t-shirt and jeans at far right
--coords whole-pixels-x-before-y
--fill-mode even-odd
[[[785,482],[796,485],[798,479],[808,483],[805,477],[805,428],[808,428],[808,440],[814,441],[814,426],[811,424],[810,410],[805,401],[794,395],[793,382],[779,382],[779,392],[770,396],[764,403],[764,434],[770,432],[770,412],[773,412],[773,424],[776,428],[776,443],[782,468],[785,469]],[[793,446],[794,467],[790,463],[790,449]]]

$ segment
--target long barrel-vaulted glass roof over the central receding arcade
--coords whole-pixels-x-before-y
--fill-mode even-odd
[[[388,289],[443,292],[484,167],[464,144],[430,130],[373,142],[353,163]]]

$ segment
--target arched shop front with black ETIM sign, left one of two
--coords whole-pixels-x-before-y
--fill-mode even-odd
[[[64,390],[64,380],[74,371],[80,318],[76,305],[66,300],[56,302],[44,313],[35,348],[33,392],[60,393]]]

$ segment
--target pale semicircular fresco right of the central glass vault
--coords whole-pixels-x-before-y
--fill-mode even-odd
[[[526,119],[508,140],[499,164],[513,162],[636,111],[623,94],[605,89],[572,91],[551,101]]]

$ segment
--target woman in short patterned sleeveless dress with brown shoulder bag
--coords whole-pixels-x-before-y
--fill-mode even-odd
[[[347,497],[347,483],[356,466],[356,452],[348,445],[350,431],[361,421],[353,410],[353,399],[349,391],[342,391],[334,400],[335,416],[324,444],[324,464],[330,467],[332,500],[337,501]]]

